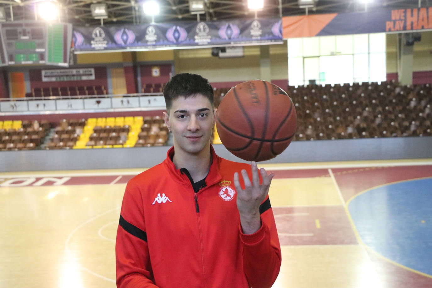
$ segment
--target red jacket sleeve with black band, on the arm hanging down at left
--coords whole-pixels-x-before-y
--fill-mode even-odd
[[[129,184],[121,204],[115,262],[118,288],[157,288],[152,282],[143,202],[138,190]]]

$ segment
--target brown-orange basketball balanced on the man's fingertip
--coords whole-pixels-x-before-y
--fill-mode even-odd
[[[265,161],[282,153],[295,135],[296,124],[291,98],[264,80],[236,85],[226,93],[216,112],[222,144],[246,161]]]

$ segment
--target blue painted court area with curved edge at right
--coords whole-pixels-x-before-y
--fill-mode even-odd
[[[372,188],[348,210],[362,241],[395,263],[432,275],[432,178]]]

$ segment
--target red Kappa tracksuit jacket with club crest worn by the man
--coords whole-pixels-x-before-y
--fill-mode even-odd
[[[174,147],[165,161],[128,182],[115,248],[118,287],[273,285],[281,253],[270,199],[260,206],[261,228],[243,234],[233,176],[246,169],[252,179],[251,166],[211,152],[206,187],[198,193],[172,163]]]

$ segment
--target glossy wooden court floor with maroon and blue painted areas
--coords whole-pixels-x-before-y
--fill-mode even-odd
[[[432,287],[432,159],[259,165],[275,288]],[[115,287],[124,187],[144,169],[0,173],[0,287]]]

